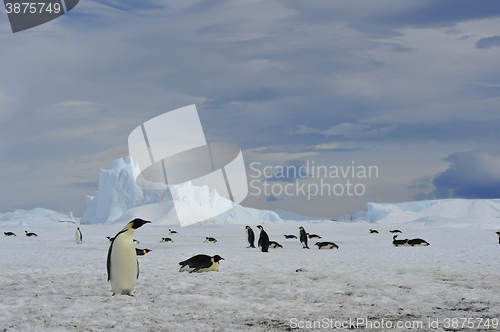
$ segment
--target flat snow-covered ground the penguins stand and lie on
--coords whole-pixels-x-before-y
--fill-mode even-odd
[[[148,224],[134,238],[153,251],[139,259],[141,275],[129,297],[111,296],[106,281],[105,237],[124,223],[75,225],[58,222],[61,216],[44,209],[0,215],[1,231],[18,235],[0,237],[0,331],[290,331],[294,319],[324,318],[422,321],[421,331],[443,331],[445,318],[492,319],[500,312],[498,221],[397,224],[400,238],[423,238],[428,247],[393,247],[396,220],[263,222],[284,247],[269,253],[246,248],[243,225],[196,224],[169,236],[172,226]],[[307,250],[284,239],[299,226],[340,248],[318,250],[313,242]],[[174,243],[160,243],[165,236]],[[203,243],[207,236],[218,242]],[[178,262],[199,253],[225,258],[220,271],[178,272]],[[427,328],[437,318],[440,328]]]

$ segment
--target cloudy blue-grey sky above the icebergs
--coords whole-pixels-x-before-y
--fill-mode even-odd
[[[81,216],[131,131],[191,104],[241,147],[244,206],[500,198],[496,0],[81,0],[15,34],[3,12],[0,45],[0,213]]]

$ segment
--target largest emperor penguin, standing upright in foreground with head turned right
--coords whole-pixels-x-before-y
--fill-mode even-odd
[[[113,295],[134,296],[136,279],[139,278],[139,262],[134,246],[134,231],[150,221],[134,219],[111,242],[108,250],[108,281]]]

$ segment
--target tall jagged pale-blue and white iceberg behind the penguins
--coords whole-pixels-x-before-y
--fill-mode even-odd
[[[179,224],[178,215],[188,220],[210,220],[215,223],[280,222],[273,211],[257,210],[236,205],[209,192],[207,186],[196,187],[191,182],[166,186],[139,178],[138,166],[132,158],[119,158],[99,173],[99,190],[87,196],[87,210],[82,224],[122,223],[136,217],[155,224]],[[175,199],[175,203],[172,200]],[[256,221],[253,221],[256,220]]]

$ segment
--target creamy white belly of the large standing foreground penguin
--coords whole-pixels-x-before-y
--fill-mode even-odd
[[[137,280],[137,255],[131,236],[121,234],[111,251],[111,289],[115,294],[133,295]]]

